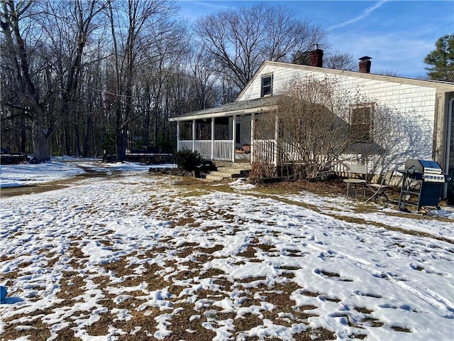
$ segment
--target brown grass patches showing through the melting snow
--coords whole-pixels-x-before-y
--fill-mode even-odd
[[[176,180],[172,183],[177,188],[184,189],[183,197],[203,195],[209,193],[212,189],[209,188],[211,184],[202,183],[199,180],[192,178],[184,178],[182,180]],[[216,190],[232,192],[233,190],[228,185],[217,186]],[[313,193],[320,195],[339,195],[345,193],[343,183],[336,181],[327,183],[279,183],[279,184],[267,184],[260,185],[250,195],[256,195],[257,197],[274,197],[275,195],[289,195],[300,193],[301,190],[309,190]],[[152,195],[153,196],[153,195]],[[177,200],[177,198],[170,198],[170,200]],[[184,199],[187,200],[187,199]],[[311,205],[304,205],[292,200],[282,200],[283,202],[292,203],[292,205],[301,205],[308,207],[313,210],[319,210],[320,207],[314,207]],[[183,204],[182,204],[183,205]],[[189,200],[184,205],[191,205]],[[127,206],[127,205],[125,205]],[[127,207],[126,207],[127,209]],[[369,205],[358,205],[357,212],[376,212],[375,206]],[[216,217],[216,220],[222,219],[226,223],[240,222],[236,221],[236,216],[226,210],[216,208],[216,210],[203,210],[200,212],[192,212],[191,215],[181,215],[175,217],[176,212],[171,212],[169,207],[160,205],[157,203],[148,212],[149,215],[159,215],[160,219],[168,220],[170,224],[168,226],[172,228],[180,227],[192,227],[199,228],[201,222],[204,220],[212,219]],[[178,212],[180,213],[180,212]],[[387,212],[387,214],[389,214]],[[343,217],[331,213],[333,217],[339,220],[345,220],[348,222],[355,222],[358,224],[365,224],[367,221],[358,217]],[[411,215],[404,213],[395,213],[391,215],[399,215],[404,217],[411,217],[411,219],[420,219],[421,216]],[[424,219],[438,219],[432,217],[424,217]],[[443,220],[443,219],[442,219]],[[267,223],[270,224],[270,223]],[[392,228],[385,224],[376,222],[367,222],[377,227],[384,227],[389,230],[399,231],[402,233],[415,234],[420,237],[431,237],[450,242],[443,237],[437,237],[421,232],[409,232],[402,229]],[[205,229],[215,229],[216,227],[204,227]],[[235,230],[235,228],[234,228]],[[236,231],[239,229],[237,228]],[[117,242],[112,236],[112,232],[105,232],[99,234],[98,242],[104,247],[114,248]],[[86,236],[84,236],[86,237]],[[236,266],[240,264],[246,264],[245,261],[259,261],[257,258],[258,254],[272,252],[275,247],[272,244],[266,244],[260,241],[260,237],[249,241],[249,244],[243,251],[236,256],[244,257],[244,261],[237,261]],[[220,269],[206,269],[203,270],[206,262],[215,259],[216,251],[223,250],[224,246],[221,244],[214,244],[209,247],[200,247],[197,243],[184,243],[179,244],[177,247],[172,237],[164,237],[159,240],[160,246],[150,249],[138,249],[133,251],[129,255],[124,255],[116,261],[111,261],[108,264],[101,264],[95,266],[92,272],[87,273],[88,256],[82,252],[80,247],[80,239],[82,237],[70,237],[74,239],[72,246],[67,249],[67,255],[72,257],[72,260],[68,264],[72,266],[73,270],[68,270],[62,273],[59,286],[60,291],[57,292],[57,298],[62,300],[60,303],[55,303],[52,307],[46,310],[37,310],[30,314],[18,314],[13,315],[4,321],[4,333],[1,335],[1,340],[13,340],[19,337],[29,337],[31,340],[47,340],[50,337],[50,327],[43,322],[43,318],[46,315],[55,313],[55,309],[66,306],[72,306],[76,302],[82,301],[82,295],[86,289],[84,286],[87,285],[88,279],[90,279],[97,288],[102,291],[102,298],[96,303],[107,308],[106,313],[99,313],[99,320],[92,325],[84,327],[88,335],[106,335],[109,328],[119,328],[126,332],[126,335],[118,335],[118,340],[153,340],[153,334],[157,328],[157,316],[169,313],[168,319],[170,325],[167,326],[167,330],[172,331],[170,337],[166,337],[165,340],[194,340],[204,341],[212,340],[216,333],[204,328],[203,323],[211,323],[214,328],[218,327],[218,321],[231,319],[235,330],[232,331],[233,339],[245,335],[245,332],[251,328],[263,325],[263,319],[267,318],[272,320],[277,325],[291,326],[294,323],[304,323],[308,328],[297,335],[293,335],[294,340],[334,340],[336,338],[333,332],[323,328],[311,329],[309,328],[308,319],[311,316],[316,316],[315,313],[311,313],[311,310],[315,310],[315,305],[304,305],[297,307],[295,301],[290,298],[294,291],[298,291],[302,295],[324,298],[326,301],[340,302],[336,297],[326,296],[324,293],[314,293],[300,288],[297,283],[292,281],[294,277],[294,271],[300,269],[298,266],[282,266],[280,271],[284,274],[280,277],[284,280],[284,283],[276,284],[275,286],[265,285],[266,277],[253,277],[244,278],[233,282],[230,278],[227,278],[224,271]],[[453,242],[450,242],[453,244]],[[166,254],[169,252],[175,252],[175,259],[173,261],[167,261],[165,265],[157,265],[153,263],[153,259],[157,258],[160,254]],[[289,256],[301,256],[301,252],[287,250],[285,251]],[[40,254],[48,260],[48,268],[55,266],[60,259],[60,255],[46,253],[45,250],[41,250]],[[138,266],[137,264],[131,264],[131,257],[137,257],[145,267],[145,271],[141,274],[136,273],[134,270]],[[193,258],[192,258],[193,257]],[[182,259],[185,259],[184,263]],[[1,261],[10,261],[13,259],[12,256],[1,256]],[[145,261],[150,259],[150,261]],[[18,271],[26,270],[30,266],[30,262],[23,262],[19,264]],[[182,266],[185,266],[182,267]],[[177,270],[178,269],[178,270]],[[421,268],[422,269],[422,268]],[[8,274],[2,274],[3,278],[15,278],[18,276],[18,271],[13,271]],[[109,274],[108,274],[109,273]],[[320,274],[326,277],[334,278],[335,280],[348,281],[341,278],[341,274],[329,271],[320,271]],[[120,283],[111,283],[112,280],[122,278],[123,281]],[[191,294],[184,293],[184,289],[190,288],[192,285],[200,283],[205,278],[212,278],[212,281],[218,285],[218,288],[214,291],[208,291],[199,289]],[[175,281],[187,281],[186,284],[180,284]],[[115,298],[118,296],[114,293],[109,293],[109,288],[127,288],[135,287],[140,283],[147,283],[147,287],[144,290],[125,291],[123,295],[130,296],[126,301],[116,303]],[[257,283],[253,283],[257,282]],[[251,285],[253,283],[253,285]],[[252,287],[251,287],[252,286]],[[166,298],[167,301],[172,305],[172,310],[160,310],[159,308],[148,306],[143,310],[138,309],[143,303],[147,303],[149,298],[146,293],[157,290],[167,290],[170,295]],[[274,308],[272,310],[260,310],[258,315],[252,313],[246,313],[245,315],[238,315],[235,311],[223,311],[216,302],[219,302],[225,298],[231,299],[230,291],[236,290],[241,293],[244,298],[242,303],[238,303],[236,308],[247,308],[251,305],[260,307],[262,303],[271,303]],[[367,294],[365,294],[367,296]],[[79,296],[79,297],[78,297]],[[370,295],[372,296],[372,295]],[[78,297],[78,298],[77,298]],[[372,296],[375,297],[375,296]],[[77,300],[76,300],[77,298]],[[204,305],[196,305],[198,300],[204,299]],[[114,309],[123,309],[131,317],[129,320],[121,320],[118,318]],[[212,310],[212,311],[211,311]],[[360,331],[362,326],[380,328],[383,323],[376,318],[372,318],[371,314],[373,310],[365,307],[356,307],[355,310],[358,313],[364,315],[360,320],[351,320],[347,316],[348,323],[352,326],[357,327],[357,331],[354,335],[350,335],[351,338],[362,339],[366,335],[363,335]],[[211,311],[211,313],[207,313]],[[286,317],[282,318],[279,313],[287,313]],[[65,322],[69,323],[69,326],[58,331],[57,340],[80,340],[74,337],[74,330],[77,328],[74,323],[74,318],[94,314],[92,310],[79,311],[74,315],[65,318]],[[19,326],[25,325],[25,323],[19,323],[19,318],[28,318],[26,325],[30,326],[29,330],[21,330]],[[411,332],[406,328],[400,328],[397,326],[391,326],[392,330],[397,332]],[[247,338],[247,340],[258,340],[257,338]],[[273,340],[269,338],[267,340]]]

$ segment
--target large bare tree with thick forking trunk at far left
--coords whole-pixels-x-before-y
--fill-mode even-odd
[[[72,4],[66,11],[55,7],[66,4]],[[50,159],[50,136],[77,95],[82,54],[92,20],[101,9],[101,2],[94,0],[2,1],[2,60],[9,70],[3,74],[9,77],[9,86],[2,101],[6,99],[6,105],[21,109],[31,119],[36,162]],[[65,31],[68,17],[75,25]]]

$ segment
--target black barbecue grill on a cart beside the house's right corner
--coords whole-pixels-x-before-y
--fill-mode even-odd
[[[409,159],[405,163],[399,209],[407,211],[406,206],[437,207],[440,202],[443,184],[449,181],[436,161]]]

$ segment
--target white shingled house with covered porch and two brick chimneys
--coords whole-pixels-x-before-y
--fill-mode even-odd
[[[321,65],[322,55],[321,50],[313,51],[311,65]],[[279,156],[273,148],[277,128],[270,139],[258,139],[255,129],[260,126],[251,122],[277,109],[277,97],[284,86],[306,76],[333,77],[342,90],[359,91],[366,102],[392,108],[412,127],[418,126],[411,141],[406,141],[413,147],[411,155],[400,154],[393,161],[395,167],[408,158],[438,161],[446,172],[454,167],[454,83],[374,75],[368,57],[360,58],[360,72],[267,61],[235,102],[171,118],[177,122],[178,150],[186,148],[213,161],[232,163],[252,162],[260,155],[261,160],[277,165]],[[353,125],[354,120],[350,115],[348,123]],[[405,124],[402,129],[406,129]]]

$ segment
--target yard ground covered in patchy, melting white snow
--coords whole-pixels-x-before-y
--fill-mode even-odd
[[[1,183],[82,163],[1,166]],[[1,198],[1,340],[454,340],[453,207],[422,217],[148,168]]]

